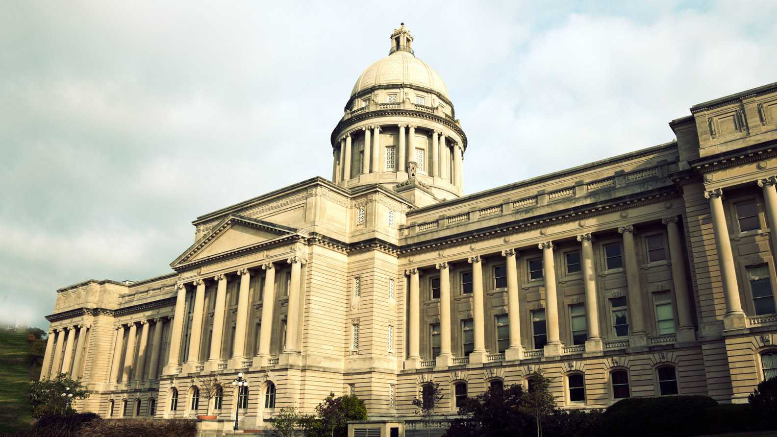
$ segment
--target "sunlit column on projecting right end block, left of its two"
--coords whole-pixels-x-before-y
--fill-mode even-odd
[[[720,279],[723,282],[723,296],[726,298],[726,315],[723,316],[725,329],[745,328],[747,318],[742,310],[737,286],[737,271],[734,269],[731,240],[726,225],[726,214],[723,212],[723,189],[713,189],[704,193],[709,199],[709,210],[713,218],[715,244],[718,249],[720,264]]]

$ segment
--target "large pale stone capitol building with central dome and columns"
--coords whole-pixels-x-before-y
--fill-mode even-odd
[[[423,427],[429,382],[451,418],[535,369],[561,408],[747,402],[777,376],[777,83],[691,106],[676,140],[465,195],[482,151],[408,29],[390,41],[336,122],[331,179],[197,217],[163,276],[57,290],[41,378],[82,378],[79,411],[211,411],[214,432],[356,394],[356,435],[388,437]]]

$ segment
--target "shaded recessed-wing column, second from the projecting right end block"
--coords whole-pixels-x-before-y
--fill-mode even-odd
[[[642,296],[642,283],[639,279],[639,262],[637,262],[636,245],[634,244],[634,227],[618,227],[623,234],[623,260],[626,269],[626,284],[629,287],[629,345],[634,348],[647,346],[647,331],[645,329],[645,310]]]

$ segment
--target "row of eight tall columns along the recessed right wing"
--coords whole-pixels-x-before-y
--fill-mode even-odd
[[[681,341],[681,332],[685,333],[685,341],[693,341],[695,334],[692,306],[688,293],[688,278],[685,272],[683,245],[678,230],[678,217],[668,217],[662,220],[662,223],[667,227],[674,294],[678,307],[678,341]],[[647,343],[647,328],[643,310],[643,300],[645,297],[643,296],[639,280],[639,262],[633,236],[635,230],[633,226],[625,226],[618,227],[618,232],[622,234],[624,248],[622,256],[625,260],[624,266],[628,286],[629,344],[632,347],[645,346]],[[591,234],[580,234],[577,236],[577,241],[580,242],[581,271],[584,281],[587,316],[587,342],[585,350],[586,352],[601,352],[602,335],[599,326],[597,275],[594,265]],[[548,340],[543,353],[546,356],[561,355],[563,353],[563,342],[559,335],[559,304],[553,255],[555,245],[552,241],[544,241],[538,245],[538,248],[542,250],[543,259],[545,317]],[[521,359],[524,356],[524,347],[521,345],[521,307],[518,300],[517,255],[518,251],[516,248],[501,251],[501,256],[505,258],[507,265],[507,317],[510,335],[509,347],[505,351],[504,357],[507,360]],[[474,349],[469,355],[469,362],[485,362],[488,359],[489,352],[486,351],[485,345],[483,258],[482,255],[473,255],[467,258],[467,261],[472,265],[472,322],[474,331]],[[451,359],[454,356],[451,349],[451,273],[449,262],[439,262],[434,265],[440,271],[440,353],[436,359],[437,366],[450,366]],[[410,368],[418,366],[417,361],[420,361],[421,358],[420,269],[423,269],[423,266],[405,271],[405,274],[409,277],[408,361]]]

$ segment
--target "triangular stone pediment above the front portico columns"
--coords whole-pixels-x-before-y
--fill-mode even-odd
[[[239,248],[256,245],[283,235],[293,234],[297,230],[264,220],[256,220],[238,214],[230,214],[213,227],[203,238],[186,249],[172,264],[196,262],[214,255],[228,253]]]

